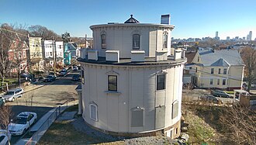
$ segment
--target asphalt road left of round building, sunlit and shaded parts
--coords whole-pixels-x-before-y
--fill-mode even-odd
[[[77,102],[77,92],[75,88],[78,81],[71,81],[74,74],[79,71],[71,71],[64,77],[57,77],[53,82],[42,82],[39,85],[24,88],[21,98],[16,98],[14,102],[7,102],[12,105],[13,117],[20,112],[36,112],[38,119],[45,113],[69,100],[68,105]],[[71,102],[72,101],[72,102]],[[37,120],[38,120],[37,119]],[[12,136],[11,144],[16,143],[22,136]]]

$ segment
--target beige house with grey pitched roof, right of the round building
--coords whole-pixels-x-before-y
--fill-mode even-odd
[[[237,50],[199,48],[187,70],[199,88],[240,89],[244,78],[244,63]]]

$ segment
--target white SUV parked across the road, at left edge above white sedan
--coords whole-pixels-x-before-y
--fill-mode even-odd
[[[22,97],[23,92],[22,88],[15,88],[7,91],[2,98],[5,99],[5,102],[13,102],[16,98]]]

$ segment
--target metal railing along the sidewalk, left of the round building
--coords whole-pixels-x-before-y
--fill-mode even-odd
[[[68,100],[64,102],[62,105],[59,105],[58,107],[55,108],[54,112],[52,112],[51,115],[47,118],[47,120],[43,123],[43,125],[40,126],[40,129],[38,129],[36,133],[34,133],[33,136],[29,138],[26,145],[34,145],[38,143],[38,141],[43,136],[43,134],[47,132],[47,129],[49,129],[50,125],[54,123],[57,117],[60,116],[65,109],[67,109],[68,107],[67,103],[68,103]]]

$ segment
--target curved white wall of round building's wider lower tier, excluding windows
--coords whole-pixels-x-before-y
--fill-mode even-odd
[[[176,66],[115,66],[81,62],[85,71],[82,85],[83,118],[96,128],[118,133],[143,133],[155,127],[155,109],[165,106],[164,126],[172,126],[181,116],[183,64]],[[166,73],[166,88],[156,90],[157,73]],[[117,91],[109,93],[107,77],[116,74]],[[171,119],[172,104],[178,101],[178,116]],[[90,119],[89,104],[98,106],[98,121]],[[144,109],[144,126],[131,127],[131,109]]]

